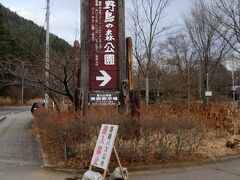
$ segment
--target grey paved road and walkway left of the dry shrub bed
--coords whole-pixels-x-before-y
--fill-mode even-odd
[[[69,174],[41,168],[31,121],[29,111],[9,115],[0,121],[0,180],[64,180],[69,177]]]

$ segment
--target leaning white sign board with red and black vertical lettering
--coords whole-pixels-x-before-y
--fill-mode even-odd
[[[116,125],[102,124],[91,160],[92,166],[107,170],[117,131]]]

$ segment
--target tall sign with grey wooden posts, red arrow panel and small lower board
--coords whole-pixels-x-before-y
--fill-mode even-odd
[[[84,107],[116,106],[127,79],[124,0],[81,0]]]

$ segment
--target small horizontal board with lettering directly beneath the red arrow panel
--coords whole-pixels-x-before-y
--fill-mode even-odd
[[[89,93],[90,106],[118,106],[119,92],[90,92]]]

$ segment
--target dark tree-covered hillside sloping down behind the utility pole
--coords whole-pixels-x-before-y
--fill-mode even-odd
[[[50,34],[50,56],[65,54],[72,47]],[[45,56],[45,30],[0,3],[0,59],[14,57],[34,61]]]

